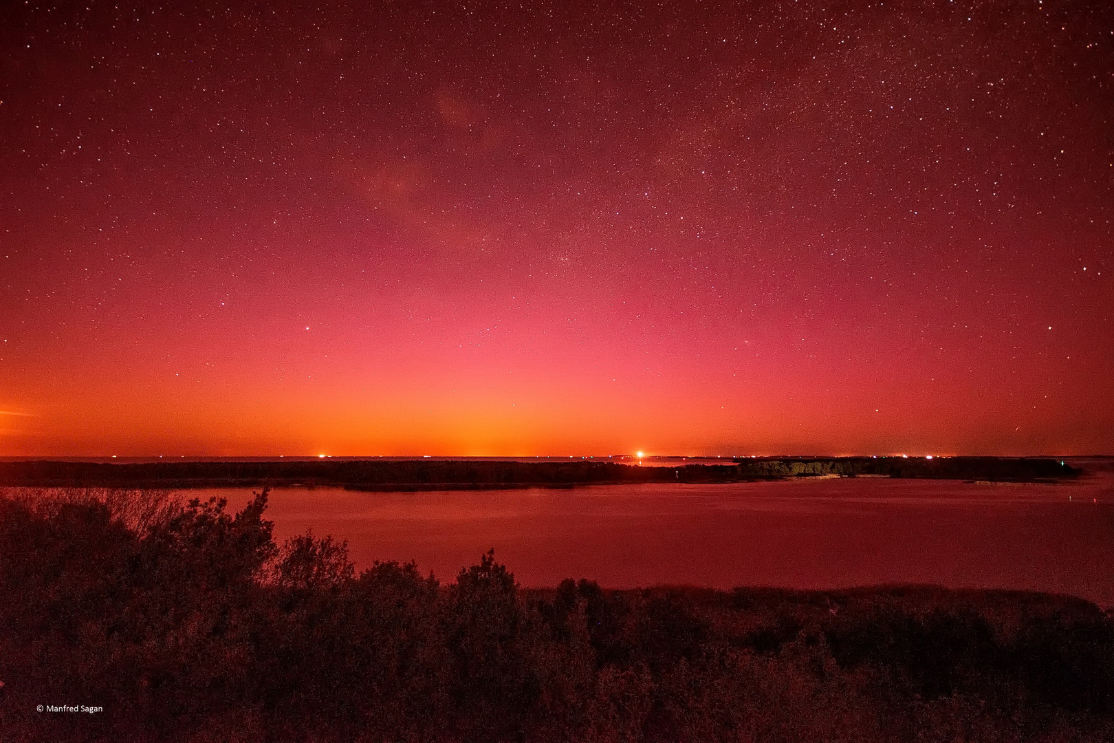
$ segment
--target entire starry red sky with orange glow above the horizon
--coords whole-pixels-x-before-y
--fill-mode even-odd
[[[0,456],[1114,453],[1106,2],[0,29]]]

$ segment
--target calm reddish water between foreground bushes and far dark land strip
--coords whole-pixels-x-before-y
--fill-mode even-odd
[[[212,489],[240,507],[250,489]],[[1095,502],[1097,500],[1097,502]],[[275,535],[346,538],[360,567],[417,560],[451,580],[494,547],[525,586],[566,577],[832,588],[1027,588],[1114,605],[1114,479],[1068,485],[804,479],[575,490],[280,488]]]

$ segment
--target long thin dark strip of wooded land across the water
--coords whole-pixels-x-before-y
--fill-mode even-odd
[[[201,488],[270,485],[333,485],[362,490],[571,487],[622,482],[744,482],[785,477],[841,475],[1052,481],[1081,470],[1057,459],[1004,457],[773,457],[729,465],[637,467],[606,461],[167,461],[102,463],[0,462],[0,486]]]

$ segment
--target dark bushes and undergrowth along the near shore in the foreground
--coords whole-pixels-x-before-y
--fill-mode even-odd
[[[444,585],[275,545],[265,491],[0,495],[4,741],[1114,740],[1082,599],[529,590],[490,554]]]

